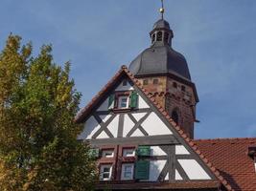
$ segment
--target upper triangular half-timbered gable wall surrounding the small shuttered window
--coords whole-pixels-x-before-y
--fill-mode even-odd
[[[124,80],[127,85],[123,86]],[[172,130],[151,109],[146,97],[134,90],[134,85],[124,79],[98,106],[92,117],[84,123],[80,139],[88,138],[129,138],[159,135],[173,135]],[[135,88],[136,89],[136,88]],[[122,92],[135,92],[138,95],[137,108],[126,113],[109,110],[109,96]],[[121,132],[122,131],[122,132]],[[107,134],[108,132],[108,134]],[[119,132],[119,134],[118,134]]]

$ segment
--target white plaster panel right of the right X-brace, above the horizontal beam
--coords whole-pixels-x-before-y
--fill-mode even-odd
[[[164,124],[164,122],[152,112],[149,117],[141,125],[149,134],[149,136],[172,135],[172,131]]]

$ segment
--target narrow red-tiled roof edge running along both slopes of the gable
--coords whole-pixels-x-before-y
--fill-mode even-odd
[[[121,69],[118,71],[117,74],[115,74],[105,85],[105,87],[92,98],[92,100],[87,104],[86,107],[81,109],[77,117],[75,118],[76,122],[82,122],[84,117],[87,117],[90,112],[93,110],[93,108],[101,101],[101,99],[105,96],[105,93],[107,93],[108,90],[116,83],[116,81],[122,77],[123,74],[127,74],[129,79],[147,96],[151,103],[158,109],[158,111],[167,118],[167,120],[170,122],[170,124],[175,128],[175,131],[189,144],[189,146],[198,154],[198,157],[208,166],[208,168],[212,171],[212,173],[218,178],[218,180],[221,181],[221,184],[226,188],[228,191],[233,191],[233,187],[229,184],[227,180],[225,180],[222,176],[219,170],[216,169],[216,167],[207,159],[205,156],[200,152],[198,149],[198,146],[194,142],[193,139],[189,138],[185,132],[182,131],[182,129],[175,123],[175,121],[168,115],[168,113],[161,107],[160,104],[156,102],[153,96],[145,90],[138,79],[136,79],[133,74],[131,74],[128,71],[128,68],[126,66],[122,66]],[[256,191],[256,190],[254,190]]]

